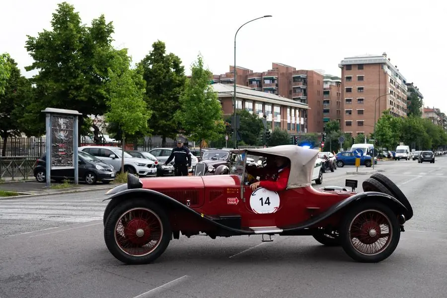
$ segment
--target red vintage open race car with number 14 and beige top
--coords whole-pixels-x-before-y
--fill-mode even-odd
[[[355,192],[357,180],[314,189],[317,150],[284,145],[231,154],[229,174],[144,179],[129,174],[127,184],[108,191],[104,239],[112,255],[127,264],[150,263],[180,233],[213,239],[262,234],[263,241],[278,234],[313,236],[323,245],[341,246],[356,261],[380,262],[396,249],[403,224],[413,216],[405,195],[380,173],[363,182],[364,192]],[[247,155],[267,159],[255,165],[257,171],[285,157],[287,186],[252,191],[253,182],[267,178],[250,174]]]

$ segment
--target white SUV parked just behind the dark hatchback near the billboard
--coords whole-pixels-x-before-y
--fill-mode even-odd
[[[121,171],[121,156],[123,154],[121,148],[108,146],[83,146],[79,147],[79,150],[87,152],[103,162],[110,164],[117,172]],[[149,177],[157,174],[157,167],[152,160],[133,157],[125,150],[124,171],[138,174],[140,177]]]

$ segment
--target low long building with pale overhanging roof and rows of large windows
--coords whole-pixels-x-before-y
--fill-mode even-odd
[[[231,115],[233,113],[233,86],[223,83],[214,83],[212,86],[218,93],[224,116]],[[241,109],[256,114],[260,118],[263,118],[265,114],[267,125],[272,129],[286,129],[291,134],[306,132],[306,115],[309,107],[305,103],[237,85],[236,110]]]

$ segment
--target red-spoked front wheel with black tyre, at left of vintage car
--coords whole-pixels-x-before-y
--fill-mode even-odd
[[[147,264],[158,258],[168,246],[170,235],[166,213],[142,199],[115,207],[104,226],[107,248],[127,264]]]

